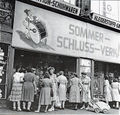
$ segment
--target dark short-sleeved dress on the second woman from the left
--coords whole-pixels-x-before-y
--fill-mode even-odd
[[[34,92],[36,91],[35,85],[35,74],[28,72],[24,76],[23,84],[23,101],[33,102],[34,101]]]

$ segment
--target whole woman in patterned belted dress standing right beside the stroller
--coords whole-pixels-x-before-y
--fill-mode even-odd
[[[83,102],[83,106],[81,109],[86,109],[88,110],[89,108],[89,102],[90,102],[90,99],[91,99],[91,95],[90,95],[90,77],[87,76],[87,74],[85,72],[82,72],[82,78],[81,78],[81,81],[82,81],[82,87],[83,87],[83,90],[82,90],[82,102]]]

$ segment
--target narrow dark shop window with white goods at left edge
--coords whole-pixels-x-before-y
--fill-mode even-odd
[[[0,98],[6,97],[6,70],[8,60],[8,46],[0,43]]]

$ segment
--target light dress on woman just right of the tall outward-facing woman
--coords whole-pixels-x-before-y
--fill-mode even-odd
[[[63,75],[58,76],[57,78],[59,85],[58,88],[58,96],[60,101],[66,100],[66,86],[67,86],[67,78]]]

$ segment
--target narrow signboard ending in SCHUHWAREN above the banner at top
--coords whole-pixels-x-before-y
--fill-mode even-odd
[[[60,0],[30,0],[30,1],[43,4],[43,5],[73,14],[73,15],[79,16],[80,14],[80,8]]]

